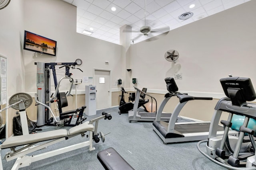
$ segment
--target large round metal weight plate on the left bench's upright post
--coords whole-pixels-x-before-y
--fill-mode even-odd
[[[24,102],[25,108],[29,107],[33,102],[33,99],[29,94],[17,93],[17,94],[12,95],[12,97],[9,100],[9,104],[12,105],[12,104],[18,102],[19,100],[22,100],[22,102]],[[20,109],[19,104],[12,106],[12,108],[14,108],[16,110]]]

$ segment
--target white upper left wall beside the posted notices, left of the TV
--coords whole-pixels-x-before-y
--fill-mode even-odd
[[[23,32],[23,0],[12,0],[0,10],[0,54],[7,57],[8,96],[24,91],[24,61],[20,32]]]

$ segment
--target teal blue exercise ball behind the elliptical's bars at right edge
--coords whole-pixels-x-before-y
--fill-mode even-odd
[[[245,118],[245,116],[234,114],[232,116],[232,120],[231,120],[231,122],[232,122],[231,129],[236,130],[236,131],[240,131],[239,130],[240,126],[242,126],[244,124],[244,118]],[[256,132],[256,120],[250,118],[247,127]],[[248,134],[246,133],[245,135],[248,135]],[[254,135],[255,135],[255,133],[254,133]]]

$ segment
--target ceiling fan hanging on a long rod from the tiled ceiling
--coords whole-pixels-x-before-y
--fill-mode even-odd
[[[151,29],[150,26],[146,25],[146,0],[145,0],[145,22],[144,22],[144,24],[145,24],[144,26],[140,27],[140,31],[134,31],[134,32],[138,32],[138,33],[140,32],[142,34],[137,35],[132,40],[136,40],[139,37],[141,37],[142,35],[148,36],[149,33],[154,33],[154,32],[159,32],[159,31],[165,33],[167,31],[170,31],[170,27],[168,27],[168,26],[161,27],[161,28],[154,30],[154,29]]]

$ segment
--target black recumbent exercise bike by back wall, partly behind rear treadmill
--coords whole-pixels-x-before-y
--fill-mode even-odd
[[[119,107],[118,107],[118,109],[119,109],[118,113],[119,114],[128,113],[128,111],[132,110],[133,106],[134,106],[134,103],[132,103],[132,102],[127,102],[126,103],[124,101],[124,93],[128,93],[128,92],[126,92],[123,87],[121,87],[121,91],[122,91],[122,96],[121,96],[120,104],[119,104]],[[142,92],[146,93],[147,88],[143,88]],[[148,99],[145,100],[145,96],[146,96],[145,94],[140,93],[138,108],[142,106],[142,107],[144,107],[145,111],[148,112],[146,107],[144,106],[144,104],[148,103],[149,100]]]

